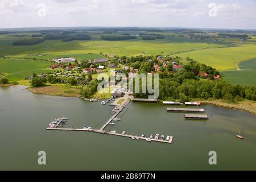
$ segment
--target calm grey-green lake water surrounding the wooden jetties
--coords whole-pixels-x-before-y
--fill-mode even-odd
[[[67,126],[100,128],[113,107],[77,98],[36,95],[23,86],[0,88],[0,169],[85,170],[256,170],[256,117],[243,111],[202,106],[208,121],[167,113],[160,104],[131,102],[121,121],[106,130],[147,136],[172,135],[172,144],[132,140],[79,131],[48,131],[53,118],[67,116]],[[245,140],[236,138],[241,130]],[[47,164],[38,164],[46,151]],[[208,152],[217,152],[210,166]]]

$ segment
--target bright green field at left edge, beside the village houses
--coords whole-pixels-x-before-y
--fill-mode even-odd
[[[32,73],[50,72],[49,65],[51,63],[43,61],[0,59],[0,72],[4,73],[10,82],[19,81]]]

